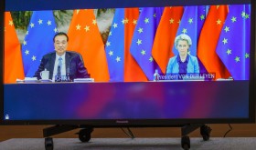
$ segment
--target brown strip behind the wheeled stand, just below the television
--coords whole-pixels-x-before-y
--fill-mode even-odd
[[[51,125],[0,125],[0,141],[10,138],[43,138],[43,129]],[[212,128],[212,137],[222,137],[229,130],[228,124],[208,125]],[[256,137],[256,124],[231,124],[232,131],[227,137]],[[178,127],[148,127],[130,128],[135,137],[180,137],[181,129]],[[56,138],[77,138],[75,135],[80,129],[63,134],[54,135]],[[189,134],[191,137],[200,137],[199,130]],[[91,138],[127,137],[121,128],[95,128]]]

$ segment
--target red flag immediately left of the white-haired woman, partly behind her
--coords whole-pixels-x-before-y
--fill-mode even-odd
[[[165,7],[162,19],[158,25],[152,55],[155,62],[160,66],[162,73],[166,71],[169,58],[174,56],[172,49],[183,11],[182,6]]]

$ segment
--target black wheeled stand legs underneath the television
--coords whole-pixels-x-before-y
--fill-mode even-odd
[[[123,127],[123,126],[121,126]],[[157,126],[158,127],[158,126]],[[210,137],[211,128],[205,124],[187,124],[187,125],[166,125],[165,127],[181,127],[181,146],[184,150],[190,148],[190,138],[188,134],[200,128],[200,135],[202,135],[204,141],[208,141]],[[68,132],[77,128],[81,128],[79,139],[81,142],[89,142],[91,140],[91,133],[93,131],[92,126],[88,125],[54,125],[43,129],[43,135],[45,137],[46,150],[53,150],[52,135],[58,135],[64,132]]]

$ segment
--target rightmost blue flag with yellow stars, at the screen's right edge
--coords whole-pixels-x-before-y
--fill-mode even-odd
[[[249,79],[250,32],[250,5],[229,5],[216,52],[235,80]]]

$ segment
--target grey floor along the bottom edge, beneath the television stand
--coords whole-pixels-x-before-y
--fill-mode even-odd
[[[0,143],[2,150],[44,150],[44,138],[13,138]],[[81,143],[78,138],[53,138],[54,150],[180,150],[181,138],[91,138]],[[197,150],[252,150],[256,137],[210,137],[190,138],[190,149]]]

